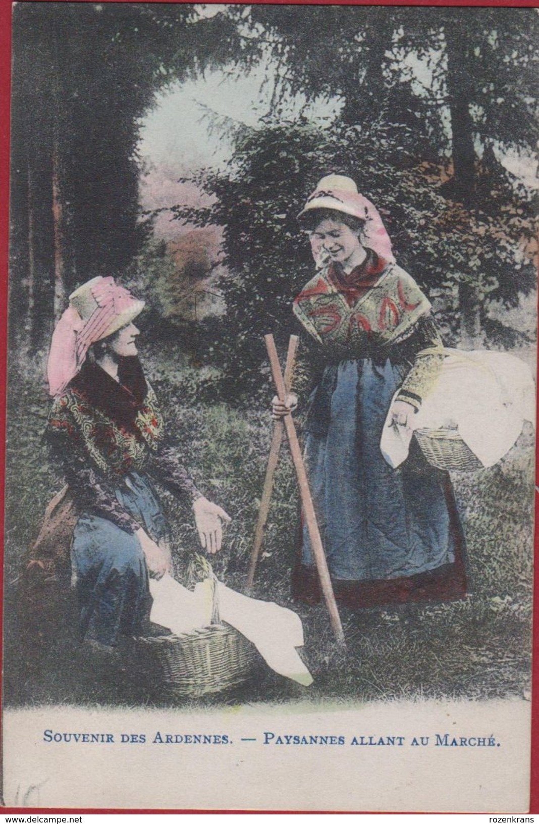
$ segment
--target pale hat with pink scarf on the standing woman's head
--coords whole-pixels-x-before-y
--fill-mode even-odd
[[[370,200],[363,197],[363,194],[359,194],[354,180],[350,177],[328,175],[319,180],[316,189],[309,195],[307,203],[298,214],[298,218],[312,211],[312,209],[319,208],[332,209],[337,213],[342,212],[365,221],[362,238],[363,246],[372,249],[388,262],[395,260],[391,249],[391,240],[382,218]],[[320,269],[327,263],[329,257],[324,253],[321,241],[314,235],[311,236],[311,249],[316,268]]]

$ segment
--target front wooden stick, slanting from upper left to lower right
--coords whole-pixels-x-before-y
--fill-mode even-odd
[[[284,386],[283,373],[281,372],[281,365],[275,349],[275,342],[273,335],[265,335],[265,345],[269,354],[269,363],[271,365],[271,373],[274,377],[275,386],[277,387],[277,395],[279,400],[284,401],[286,398],[286,389]],[[316,513],[314,503],[312,503],[311,490],[307,480],[307,471],[303,463],[302,451],[299,446],[298,434],[293,422],[293,417],[290,414],[284,416],[284,428],[288,436],[288,443],[290,444],[290,452],[292,452],[292,460],[296,475],[298,475],[299,494],[302,499],[303,513],[307,522],[307,529],[311,539],[312,553],[314,555],[316,569],[318,570],[318,577],[324,600],[326,601],[327,610],[330,613],[331,626],[335,633],[335,639],[338,644],[344,646],[344,632],[342,624],[340,623],[339,610],[335,602],[335,593],[331,585],[331,578],[329,569],[327,569],[326,554],[322,546],[320,530],[316,522]]]

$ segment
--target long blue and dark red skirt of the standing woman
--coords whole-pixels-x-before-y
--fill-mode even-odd
[[[466,593],[462,528],[447,473],[412,442],[392,469],[380,451],[405,368],[387,359],[329,366],[312,396],[305,461],[335,596],[348,606],[437,600]],[[307,525],[294,593],[316,599]]]

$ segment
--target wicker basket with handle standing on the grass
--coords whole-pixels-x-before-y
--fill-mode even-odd
[[[199,697],[246,681],[258,656],[245,636],[220,622],[217,578],[208,559],[195,555],[188,578],[190,583],[197,578],[213,580],[212,624],[190,634],[138,640],[153,662],[157,662],[162,686],[169,695]]]

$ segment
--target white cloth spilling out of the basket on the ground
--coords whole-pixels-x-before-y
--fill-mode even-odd
[[[217,582],[217,588],[220,619],[245,635],[279,675],[310,686],[312,675],[296,649],[303,646],[299,616],[274,602],[257,601],[234,592],[223,583]],[[211,623],[213,595],[209,579],[197,583],[194,592],[190,592],[166,574],[159,581],[150,578],[150,592],[150,620],[176,635],[190,634]]]

